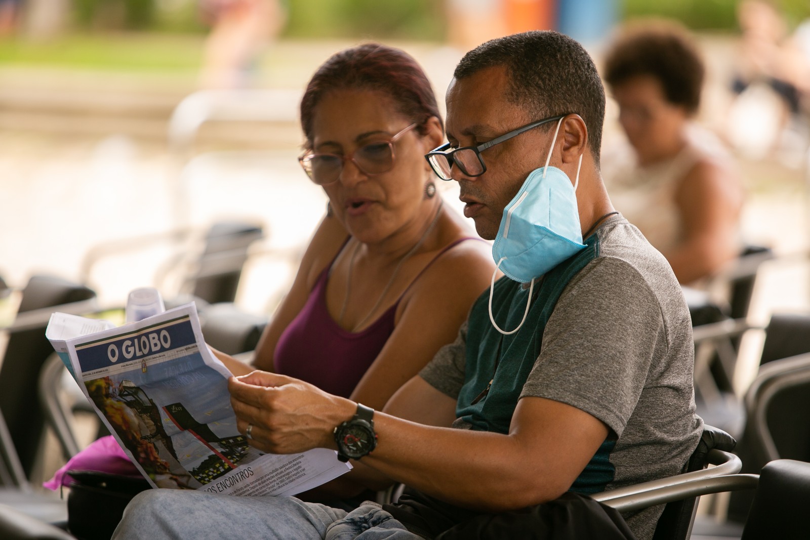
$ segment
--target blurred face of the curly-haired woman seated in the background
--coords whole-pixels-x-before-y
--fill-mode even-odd
[[[619,123],[642,164],[671,157],[680,143],[687,114],[671,104],[652,75],[637,75],[612,88],[619,105]]]

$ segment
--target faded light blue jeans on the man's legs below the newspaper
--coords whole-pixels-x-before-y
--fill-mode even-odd
[[[352,512],[295,497],[240,497],[151,489],[126,507],[114,540],[245,538],[245,540],[419,540],[378,504]]]

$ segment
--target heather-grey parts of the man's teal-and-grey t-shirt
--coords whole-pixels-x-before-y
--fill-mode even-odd
[[[615,472],[606,487],[612,489],[678,474],[702,421],[693,398],[689,309],[670,266],[620,216],[595,234],[598,256],[557,300],[520,397],[564,402],[602,420],[615,440],[609,453]],[[454,398],[465,382],[468,338],[475,337],[465,325],[420,372]],[[627,517],[638,538],[652,537],[662,509]]]

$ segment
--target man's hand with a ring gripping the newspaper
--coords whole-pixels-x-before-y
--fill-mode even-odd
[[[336,449],[335,426],[351,419],[357,404],[289,376],[262,371],[228,380],[237,429],[269,453]]]

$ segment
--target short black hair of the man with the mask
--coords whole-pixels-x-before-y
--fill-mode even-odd
[[[582,45],[551,30],[499,37],[465,54],[454,77],[463,79],[494,66],[505,66],[509,76],[506,99],[525,107],[535,120],[556,114],[581,116],[588,130],[588,146],[599,166],[605,91],[594,61]]]

